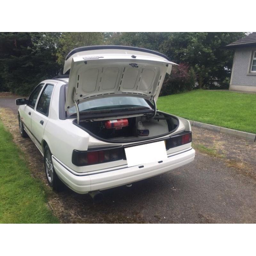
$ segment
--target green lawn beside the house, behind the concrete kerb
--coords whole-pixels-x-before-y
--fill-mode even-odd
[[[256,133],[256,94],[194,90],[160,97],[157,108],[193,121]]]

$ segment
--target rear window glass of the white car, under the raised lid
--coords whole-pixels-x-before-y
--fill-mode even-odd
[[[150,108],[148,102],[142,98],[138,97],[106,97],[102,99],[95,99],[82,102],[78,104],[78,108],[80,112],[86,111],[100,111],[104,113],[104,110],[116,110],[116,111],[130,111],[136,109],[145,109]],[[75,114],[76,108],[72,107],[68,109],[68,116]]]

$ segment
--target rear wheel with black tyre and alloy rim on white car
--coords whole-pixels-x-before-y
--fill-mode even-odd
[[[57,192],[61,191],[63,188],[63,183],[54,170],[52,164],[52,153],[48,145],[44,147],[44,170],[49,186]]]

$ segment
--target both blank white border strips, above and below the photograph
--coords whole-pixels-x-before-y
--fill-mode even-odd
[[[2,1],[0,31],[253,31],[235,1]],[[253,232],[254,231],[254,232]],[[1,224],[1,255],[248,255],[255,224]]]

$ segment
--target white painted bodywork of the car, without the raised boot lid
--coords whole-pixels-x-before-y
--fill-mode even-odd
[[[61,120],[60,110],[63,108],[64,111],[65,101],[60,106],[60,90],[65,84],[68,84],[68,79],[50,79],[40,84],[44,84],[44,86],[52,84],[54,86],[49,115],[44,116],[36,110],[38,99],[44,90],[44,86],[39,93],[34,109],[28,105],[20,105],[18,109],[19,115],[24,124],[24,129],[42,155],[44,155],[44,146],[46,144],[49,146],[52,153],[53,166],[58,177],[77,193],[83,194],[93,190],[103,190],[146,179],[194,160],[195,151],[191,148],[191,143],[187,143],[168,149],[166,152],[168,159],[163,160],[162,163],[143,164],[143,168],[138,168],[138,166],[127,167],[127,161],[124,159],[101,164],[76,166],[72,163],[73,150],[87,151],[88,148],[96,147],[132,146],[134,142],[112,143],[99,140],[74,125],[74,118]],[[31,112],[31,115],[28,115],[28,112]],[[158,140],[168,139],[170,135],[173,136],[183,131],[191,131],[188,120],[177,118],[179,120],[177,129],[171,134],[159,137]],[[41,120],[44,121],[43,125],[40,124]],[[145,141],[150,143],[155,140],[146,139]]]

